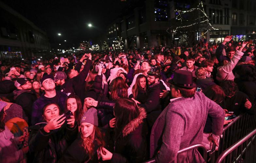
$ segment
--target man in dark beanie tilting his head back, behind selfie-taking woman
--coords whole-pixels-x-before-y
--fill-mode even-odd
[[[52,75],[45,75],[40,80],[40,84],[44,93],[33,104],[32,125],[42,121],[42,109],[48,103],[56,103],[60,108],[60,112],[65,111],[67,95],[55,90],[54,77]]]

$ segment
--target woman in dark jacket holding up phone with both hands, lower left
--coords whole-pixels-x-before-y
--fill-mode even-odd
[[[34,162],[57,162],[78,134],[74,116],[65,120],[59,106],[49,103],[43,107],[44,121],[31,126],[29,151],[35,152]]]

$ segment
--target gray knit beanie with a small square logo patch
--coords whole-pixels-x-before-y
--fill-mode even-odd
[[[88,109],[82,116],[80,125],[81,123],[84,123],[84,122],[90,123],[94,126],[98,126],[97,109],[95,108]]]

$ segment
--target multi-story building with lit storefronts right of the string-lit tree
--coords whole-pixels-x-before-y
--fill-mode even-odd
[[[227,35],[232,35],[236,41],[255,39],[255,3],[256,0],[205,0],[203,4],[210,22],[219,29],[210,31],[208,40],[221,42]]]

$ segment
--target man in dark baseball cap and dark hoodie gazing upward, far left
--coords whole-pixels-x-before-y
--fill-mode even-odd
[[[32,84],[25,78],[19,78],[14,83],[17,90],[13,91],[15,103],[20,105],[28,117],[28,123],[31,124],[32,104],[37,100],[36,94],[31,91]]]

